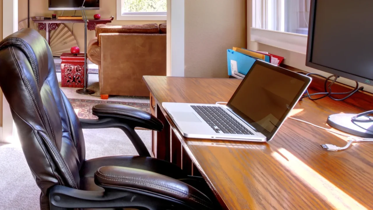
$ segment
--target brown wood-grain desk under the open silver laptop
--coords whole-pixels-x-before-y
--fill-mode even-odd
[[[184,138],[162,102],[228,101],[241,80],[156,76],[144,80],[152,112],[165,125],[162,132],[153,133],[153,154],[189,173],[200,172],[225,209],[373,209],[373,143],[326,151],[320,143],[344,146],[345,138],[291,119],[269,143]],[[329,114],[361,111],[325,98],[299,102],[292,116],[328,127]]]

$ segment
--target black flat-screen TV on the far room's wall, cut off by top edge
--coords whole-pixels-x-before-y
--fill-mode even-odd
[[[81,6],[91,10],[100,9],[100,0],[49,0],[48,5],[49,10],[80,10]]]

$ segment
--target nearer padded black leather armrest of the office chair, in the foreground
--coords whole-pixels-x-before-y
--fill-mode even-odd
[[[211,200],[194,187],[159,173],[120,166],[103,166],[94,175],[95,183],[105,190],[135,189],[139,194],[146,193],[164,201],[173,200],[184,204],[188,209],[214,209]]]

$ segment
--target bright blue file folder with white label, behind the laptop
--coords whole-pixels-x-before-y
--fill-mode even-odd
[[[256,59],[234,50],[227,50],[228,60],[228,75],[232,75],[235,71],[246,75]]]

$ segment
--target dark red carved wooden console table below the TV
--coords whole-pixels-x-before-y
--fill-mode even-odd
[[[114,19],[113,16],[107,19],[88,19],[88,25],[87,29],[90,31],[95,30],[97,24],[107,24],[112,22]],[[44,17],[33,17],[32,21],[38,24],[38,29],[43,31],[46,31],[46,39],[48,41],[48,44],[50,44],[50,31],[56,30],[59,26],[59,24],[62,23],[84,23],[83,19],[77,19],[77,20],[59,20],[59,19],[44,19]]]

